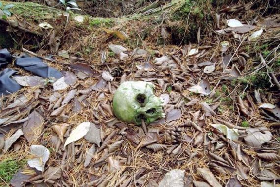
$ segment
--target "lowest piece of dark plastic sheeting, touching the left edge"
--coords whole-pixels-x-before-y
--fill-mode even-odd
[[[17,71],[6,68],[0,73],[0,96],[8,95],[22,88],[15,80],[11,78]]]

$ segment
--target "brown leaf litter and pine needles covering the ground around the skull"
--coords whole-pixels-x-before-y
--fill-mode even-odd
[[[82,45],[66,41],[57,50],[44,49],[54,53],[55,61],[50,66],[43,56],[29,59],[37,63],[34,67],[50,72],[34,72],[21,63],[23,59],[17,60],[18,66],[27,71],[9,75],[9,82],[17,80],[26,87],[18,86],[18,92],[1,99],[0,140],[6,150],[1,156],[25,159],[25,166],[43,172],[22,168],[11,184],[279,185],[275,181],[279,178],[280,159],[279,94],[270,69],[279,48],[266,43],[275,36],[279,21],[269,17],[254,17],[257,20],[252,22],[251,18],[241,19],[237,12],[250,15],[242,8],[247,5],[222,8],[216,23],[221,33],[214,32],[213,26],[213,33],[207,35],[201,26],[196,33],[199,44],[154,45],[148,35],[151,40],[134,46],[129,42],[134,36],[125,34],[130,30],[96,27],[98,34],[94,33],[94,38],[83,35],[79,41]],[[74,28],[78,23],[72,21],[75,19],[69,24]],[[57,29],[54,22],[48,23]],[[168,40],[173,33],[165,24],[157,32]],[[68,33],[69,28],[65,29]],[[53,35],[51,29],[43,31],[46,40]],[[104,37],[109,39],[104,41]],[[81,46],[90,46],[88,42],[93,40],[100,45],[94,54],[80,55]],[[255,58],[259,53],[266,54],[264,62]],[[4,66],[13,68],[9,63],[9,57],[3,60]],[[260,88],[260,82],[254,82],[257,78],[252,75],[259,68],[267,70],[264,74],[271,78],[266,82],[268,87]],[[51,78],[54,75],[56,79]],[[147,133],[141,126],[123,123],[113,116],[112,97],[125,80],[153,82],[155,94],[163,101],[167,116],[145,124]],[[24,180],[16,182],[17,176]]]

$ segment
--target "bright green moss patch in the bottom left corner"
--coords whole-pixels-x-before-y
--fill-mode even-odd
[[[18,172],[19,169],[26,165],[26,160],[13,160],[7,159],[0,162],[0,178],[6,183],[13,178],[14,174]]]

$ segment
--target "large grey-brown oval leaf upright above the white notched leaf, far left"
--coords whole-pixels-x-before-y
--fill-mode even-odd
[[[28,116],[23,124],[23,133],[29,143],[36,141],[43,130],[44,118],[35,110]]]

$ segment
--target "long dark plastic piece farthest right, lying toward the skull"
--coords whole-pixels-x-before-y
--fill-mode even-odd
[[[41,58],[37,57],[22,57],[16,59],[15,64],[26,71],[30,71],[31,73],[43,77],[43,78],[51,78],[54,77],[59,79],[62,77],[60,71],[55,68],[49,67],[47,64],[43,62]]]

